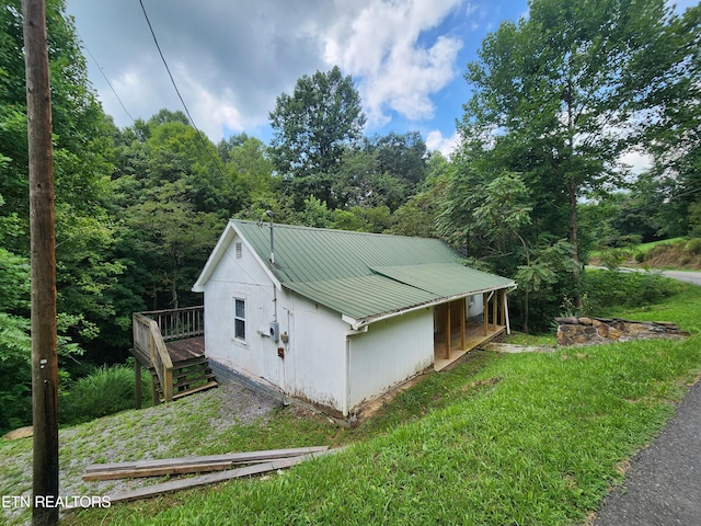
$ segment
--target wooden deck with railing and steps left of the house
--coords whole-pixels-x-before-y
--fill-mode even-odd
[[[217,386],[205,356],[203,306],[136,312],[131,321],[137,409],[141,405],[141,367],[151,373],[154,405]]]

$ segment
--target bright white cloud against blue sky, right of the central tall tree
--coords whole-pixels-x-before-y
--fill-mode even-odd
[[[349,9],[325,37],[324,59],[359,78],[358,90],[370,127],[379,127],[395,111],[415,121],[430,118],[430,95],[458,73],[459,38],[440,35],[430,45],[420,36],[437,27],[462,0],[369,0]]]

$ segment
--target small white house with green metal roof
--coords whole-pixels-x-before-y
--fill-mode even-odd
[[[508,325],[514,282],[457,259],[436,239],[231,220],[193,287],[206,355],[349,418],[460,356],[475,319],[479,341]]]

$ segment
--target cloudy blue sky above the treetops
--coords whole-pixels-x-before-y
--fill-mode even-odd
[[[142,4],[194,124],[215,142],[241,132],[268,142],[277,96],[291,94],[301,76],[337,65],[363,100],[365,135],[416,130],[428,149],[444,153],[455,145],[456,119],[470,98],[468,62],[503,21],[528,15],[527,0]],[[163,107],[184,110],[139,0],[68,0],[67,13],[83,42],[90,80],[117,126]]]

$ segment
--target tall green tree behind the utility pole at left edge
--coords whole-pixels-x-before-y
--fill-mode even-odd
[[[21,5],[0,9],[0,224],[13,224],[3,247],[28,256],[26,93]],[[64,0],[46,4],[54,175],[57,209],[58,309],[68,333],[89,344],[114,316],[110,288],[123,267],[110,261],[113,242],[110,156],[116,130],[88,80],[88,70]],[[0,227],[1,228],[1,227]],[[95,344],[95,347],[100,347]]]

